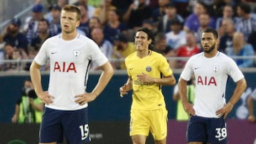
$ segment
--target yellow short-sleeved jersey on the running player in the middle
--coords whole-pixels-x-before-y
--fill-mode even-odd
[[[138,74],[147,74],[150,77],[161,78],[172,74],[166,58],[154,51],[149,51],[149,55],[140,58],[137,52],[133,52],[125,59],[127,73],[132,77],[132,109],[153,110],[166,107],[164,96],[161,92],[161,85],[140,82]]]

